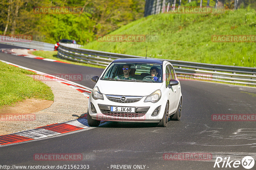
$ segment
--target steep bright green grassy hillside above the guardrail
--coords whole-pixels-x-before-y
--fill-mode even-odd
[[[170,60],[255,67],[256,43],[212,42],[212,35],[255,35],[251,9],[211,14],[158,14],[141,18],[110,34],[143,34],[145,42],[98,42],[82,48]]]

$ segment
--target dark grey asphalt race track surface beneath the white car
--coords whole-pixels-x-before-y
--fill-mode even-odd
[[[1,45],[0,48],[7,48]],[[13,48],[10,47],[9,48]],[[0,53],[0,60],[48,74],[100,75],[103,69],[29,59]],[[88,78],[89,79],[89,78]],[[88,79],[77,83],[93,88]],[[230,161],[252,156],[256,161],[255,121],[212,121],[212,114],[255,114],[256,88],[202,81],[181,81],[180,121],[167,127],[145,123],[107,122],[97,128],[0,147],[0,165],[89,165],[89,169],[122,169],[113,165],[145,165],[144,169],[213,168],[216,157]],[[82,153],[80,161],[35,161],[37,153]],[[164,160],[164,153],[208,153],[210,160]],[[92,159],[86,159],[86,156]],[[233,166],[233,162],[230,164]],[[223,161],[219,164],[222,166]],[[135,166],[134,166],[135,167]],[[68,167],[67,167],[68,168]],[[0,167],[0,169],[2,169]],[[56,169],[56,168],[55,168]],[[245,169],[242,165],[235,169]],[[256,169],[256,164],[252,169]]]

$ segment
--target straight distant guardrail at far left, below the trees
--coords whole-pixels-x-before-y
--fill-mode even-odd
[[[12,45],[12,46],[20,46],[20,47],[30,48],[30,49],[44,50],[44,51],[53,51],[54,49],[54,44],[45,43],[41,41],[26,40],[26,39],[13,40],[12,37],[2,36],[2,35],[0,35],[0,43]]]

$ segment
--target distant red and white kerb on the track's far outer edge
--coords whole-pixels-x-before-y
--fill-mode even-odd
[[[28,53],[28,51],[37,51],[36,49],[1,48],[0,51],[3,52],[3,53],[17,55],[17,56],[22,56],[22,57],[27,57],[27,58],[33,58],[33,59],[39,59],[39,60],[45,60],[45,61],[52,61],[52,62],[59,62],[59,63],[69,64],[67,62],[53,60],[53,59],[47,59],[47,58],[43,58],[43,57],[38,57],[36,55],[32,55],[32,54]]]

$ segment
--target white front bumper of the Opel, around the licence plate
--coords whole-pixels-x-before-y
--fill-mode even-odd
[[[103,94],[104,100],[95,100],[89,97],[88,110],[92,119],[107,120],[118,122],[143,122],[143,123],[159,123],[163,118],[166,102],[161,98],[158,102],[144,102],[147,96],[144,96],[138,102],[134,103],[118,103],[108,100],[106,95]],[[93,106],[92,106],[93,105]],[[135,107],[135,113],[126,112],[111,112],[111,106],[118,107]],[[152,116],[152,113],[161,106],[157,116]],[[92,112],[92,107],[95,108],[97,113]]]

